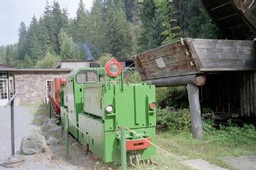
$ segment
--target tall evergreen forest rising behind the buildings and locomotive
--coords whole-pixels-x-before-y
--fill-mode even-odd
[[[200,0],[94,0],[68,17],[57,1],[40,18],[20,23],[18,43],[0,46],[0,63],[18,68],[51,68],[58,60],[117,59],[177,41],[181,37],[217,39],[220,33]]]

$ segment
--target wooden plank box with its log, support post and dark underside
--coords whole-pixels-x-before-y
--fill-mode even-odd
[[[134,62],[141,79],[155,86],[187,86],[197,139],[201,105],[225,120],[234,114],[256,120],[255,41],[182,39],[137,54]]]

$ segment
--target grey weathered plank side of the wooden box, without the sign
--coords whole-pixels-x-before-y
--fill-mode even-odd
[[[254,41],[192,39],[190,43],[195,49],[203,70],[256,68]]]

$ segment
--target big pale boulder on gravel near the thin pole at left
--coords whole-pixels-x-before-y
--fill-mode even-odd
[[[26,155],[35,153],[44,153],[47,150],[47,142],[38,132],[28,134],[28,137],[23,137],[20,145],[20,152]]]

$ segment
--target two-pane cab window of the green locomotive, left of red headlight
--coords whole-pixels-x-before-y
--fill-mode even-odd
[[[96,70],[80,70],[77,73],[76,80],[78,84],[91,84],[98,81],[98,72]]]

